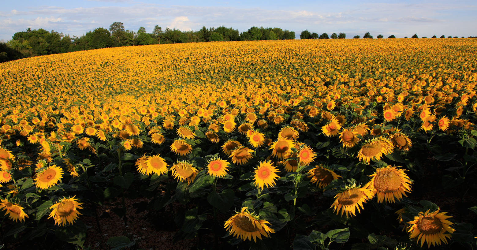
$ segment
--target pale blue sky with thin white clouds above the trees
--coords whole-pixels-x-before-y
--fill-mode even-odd
[[[114,21],[127,30],[155,25],[181,31],[252,26],[295,31],[345,32],[347,38],[370,32],[376,37],[477,36],[476,0],[0,0],[0,41],[27,28],[81,36]]]

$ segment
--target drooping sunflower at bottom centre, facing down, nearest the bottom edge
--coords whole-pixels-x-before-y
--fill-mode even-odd
[[[237,235],[237,239],[240,237],[242,240],[251,240],[253,237],[253,241],[257,242],[257,237],[261,240],[262,235],[270,237],[270,233],[275,232],[275,230],[266,224],[270,224],[270,222],[260,220],[257,216],[250,214],[247,211],[247,207],[243,207],[240,213],[237,213],[225,221],[224,228],[228,230],[230,234],[233,233],[233,237]]]

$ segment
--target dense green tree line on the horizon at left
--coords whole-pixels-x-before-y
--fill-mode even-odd
[[[163,30],[162,27],[156,25],[153,31],[148,33],[144,27],[140,27],[137,31],[131,31],[124,28],[124,23],[114,22],[109,29],[96,28],[80,37],[64,35],[57,31],[28,28],[26,31],[16,32],[7,43],[0,43],[0,62],[39,55],[121,46],[287,39],[295,39],[295,32],[255,26],[240,33],[238,30],[224,26],[209,29],[204,26],[198,31],[180,31],[170,28]]]

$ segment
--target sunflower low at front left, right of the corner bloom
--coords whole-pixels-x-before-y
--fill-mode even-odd
[[[53,204],[50,209],[53,209],[50,213],[50,217],[55,220],[55,224],[58,226],[66,225],[66,222],[73,224],[75,219],[78,219],[78,215],[81,213],[78,212],[78,209],[83,209],[81,204],[79,203],[78,199],[74,198],[62,198],[55,204]]]

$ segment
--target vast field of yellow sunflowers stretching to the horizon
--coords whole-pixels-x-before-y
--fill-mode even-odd
[[[143,198],[192,249],[476,249],[476,67],[471,38],[0,63],[0,248],[154,249],[85,243]]]

